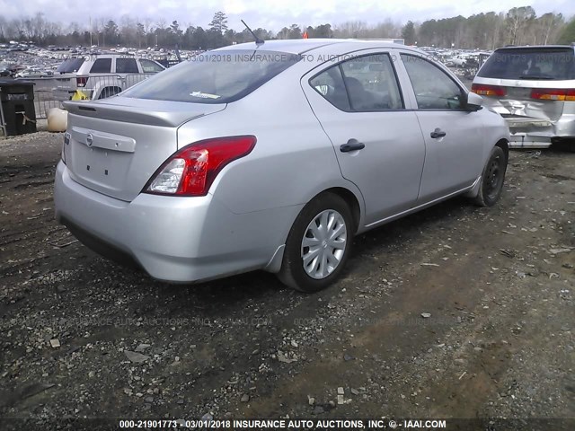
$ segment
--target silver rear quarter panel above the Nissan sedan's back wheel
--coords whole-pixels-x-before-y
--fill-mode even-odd
[[[332,187],[349,189],[362,202],[341,177],[333,146],[299,86],[301,65],[291,69],[178,130],[179,147],[208,137],[257,137],[252,153],[227,165],[210,189],[236,214],[305,204]]]

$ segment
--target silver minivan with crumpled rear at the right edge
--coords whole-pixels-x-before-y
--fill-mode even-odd
[[[575,151],[573,46],[499,48],[473,79],[472,92],[509,125],[510,147]]]

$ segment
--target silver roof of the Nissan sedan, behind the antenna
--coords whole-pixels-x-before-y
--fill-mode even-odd
[[[221,50],[229,49],[259,49],[262,51],[279,51],[288,54],[304,54],[317,48],[344,44],[358,44],[361,48],[406,48],[411,47],[390,42],[388,40],[360,40],[360,39],[294,39],[294,40],[266,40],[264,43],[256,44],[255,42],[239,43],[229,47],[218,48]],[[348,48],[348,47],[346,47]],[[421,52],[420,49],[411,48],[415,52]]]

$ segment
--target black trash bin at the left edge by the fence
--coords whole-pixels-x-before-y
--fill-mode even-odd
[[[17,79],[0,80],[0,122],[6,136],[36,131],[34,83]]]

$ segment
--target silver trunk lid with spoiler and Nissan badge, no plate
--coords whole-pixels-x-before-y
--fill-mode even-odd
[[[177,151],[177,129],[182,123],[226,108],[225,104],[125,97],[64,105],[68,110],[64,152],[71,178],[128,202]]]

